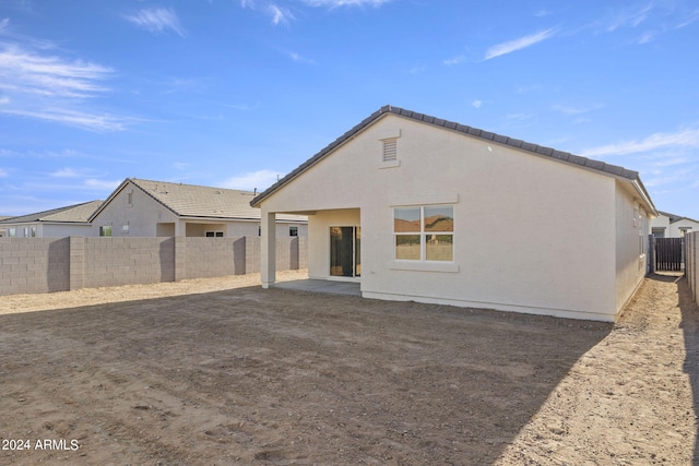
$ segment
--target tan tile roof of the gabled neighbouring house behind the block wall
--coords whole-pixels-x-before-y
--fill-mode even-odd
[[[127,178],[109,195],[102,207],[95,211],[91,220],[129,184],[137,187],[155,202],[162,204],[179,217],[220,219],[261,218],[260,210],[250,206],[250,200],[254,196],[252,191]],[[301,215],[280,215],[277,219],[307,222],[307,217]]]

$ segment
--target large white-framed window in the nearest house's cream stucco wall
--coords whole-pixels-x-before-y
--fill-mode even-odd
[[[454,208],[451,205],[393,210],[395,259],[452,262]]]

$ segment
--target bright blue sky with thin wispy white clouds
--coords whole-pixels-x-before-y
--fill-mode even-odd
[[[699,219],[699,3],[2,0],[0,215],[262,190],[383,105],[640,171]]]

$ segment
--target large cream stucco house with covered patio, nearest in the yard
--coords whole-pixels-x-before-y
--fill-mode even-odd
[[[647,273],[638,172],[382,107],[252,200],[308,215],[309,277],[367,298],[614,321]]]

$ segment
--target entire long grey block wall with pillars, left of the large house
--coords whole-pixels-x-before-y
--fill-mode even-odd
[[[0,238],[0,295],[260,272],[259,237]],[[277,238],[279,271],[306,268],[307,239]]]

